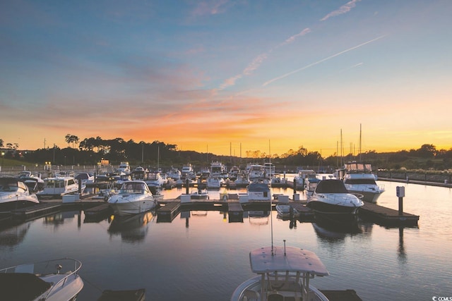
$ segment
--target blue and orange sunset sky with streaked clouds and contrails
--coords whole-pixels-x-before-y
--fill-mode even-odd
[[[0,139],[452,148],[452,1],[0,1]]]

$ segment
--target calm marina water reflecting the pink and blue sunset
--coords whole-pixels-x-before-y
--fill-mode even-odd
[[[152,214],[124,224],[88,223],[83,211],[67,211],[2,230],[0,267],[80,259],[85,287],[78,300],[96,300],[106,289],[136,288],[145,288],[146,300],[229,300],[237,285],[253,276],[249,250],[270,245],[273,221],[274,245],[287,240],[316,252],[326,265],[330,276],[315,278],[317,288],[353,289],[363,300],[452,296],[452,190],[379,184],[386,188],[379,204],[393,209],[398,208],[396,186],[405,186],[404,210],[420,215],[419,227],[360,222],[357,233],[338,233],[313,223],[290,227],[275,211],[273,218],[245,215],[243,223],[229,223],[220,211],[182,213],[171,223],[157,223]],[[184,191],[166,191],[165,198]],[[210,198],[218,199],[218,190]]]

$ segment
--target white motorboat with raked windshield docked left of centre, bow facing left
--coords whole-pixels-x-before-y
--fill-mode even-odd
[[[148,185],[143,180],[130,180],[122,184],[117,195],[108,199],[114,214],[140,214],[157,207]]]

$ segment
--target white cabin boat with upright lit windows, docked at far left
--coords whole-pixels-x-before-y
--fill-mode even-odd
[[[78,193],[78,180],[73,177],[53,177],[44,178],[44,189],[37,192],[38,198],[60,198],[64,195]],[[81,192],[85,190],[85,185],[81,184]]]

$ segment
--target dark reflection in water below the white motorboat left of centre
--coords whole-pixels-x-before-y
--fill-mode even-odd
[[[155,218],[155,211],[146,211],[131,216],[112,216],[112,221],[107,230],[110,237],[121,236],[124,242],[143,242],[148,234],[148,226]]]

